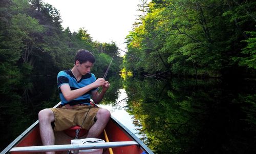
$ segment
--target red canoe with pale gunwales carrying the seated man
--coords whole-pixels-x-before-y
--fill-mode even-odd
[[[54,107],[58,107],[57,104]],[[38,120],[32,124],[27,130],[18,136],[10,145],[8,145],[0,154],[25,154],[25,153],[45,153],[44,151],[51,150],[56,151],[57,154],[65,153],[67,150],[73,150],[74,146],[70,145],[71,140],[74,137],[70,136],[70,133],[75,133],[75,130],[69,130],[67,133],[59,131],[55,133],[55,144],[53,146],[42,146],[41,138],[39,134]],[[73,131],[73,132],[72,132]],[[81,133],[81,132],[80,132]],[[80,134],[79,133],[79,134]],[[68,135],[69,134],[69,135]],[[80,137],[79,139],[82,139]],[[106,143],[92,143],[92,147],[85,147],[83,145],[76,146],[76,150],[82,149],[100,149],[103,148],[103,153],[153,153],[138,137],[136,137],[129,129],[117,121],[114,117],[105,127],[105,133],[99,137]],[[79,144],[77,144],[79,145]],[[95,146],[96,145],[96,146]],[[31,147],[33,146],[33,147]],[[71,148],[72,146],[72,148]],[[31,150],[32,149],[32,150]],[[36,150],[35,150],[36,149]],[[57,150],[56,150],[57,149]],[[111,151],[112,150],[112,151]],[[36,152],[35,152],[36,151]]]

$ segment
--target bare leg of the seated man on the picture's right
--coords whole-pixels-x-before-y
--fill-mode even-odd
[[[110,120],[110,112],[108,109],[100,108],[97,115],[97,121],[95,124],[89,129],[87,138],[97,138],[105,128],[106,124]]]

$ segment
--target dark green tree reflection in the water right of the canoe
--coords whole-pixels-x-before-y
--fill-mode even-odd
[[[255,82],[124,81],[127,112],[156,153],[255,152]]]

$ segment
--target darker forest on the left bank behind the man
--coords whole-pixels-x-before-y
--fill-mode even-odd
[[[104,73],[114,56],[110,73],[118,73],[122,58],[115,42],[94,41],[87,30],[63,29],[53,6],[40,0],[0,2],[1,76],[51,75],[71,69],[75,53],[87,49],[96,57],[93,72]]]

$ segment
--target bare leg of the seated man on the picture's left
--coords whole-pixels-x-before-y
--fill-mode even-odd
[[[43,145],[54,145],[54,133],[51,122],[53,122],[54,114],[51,109],[46,108],[38,113],[40,136]],[[47,154],[54,154],[55,152],[46,152]]]

